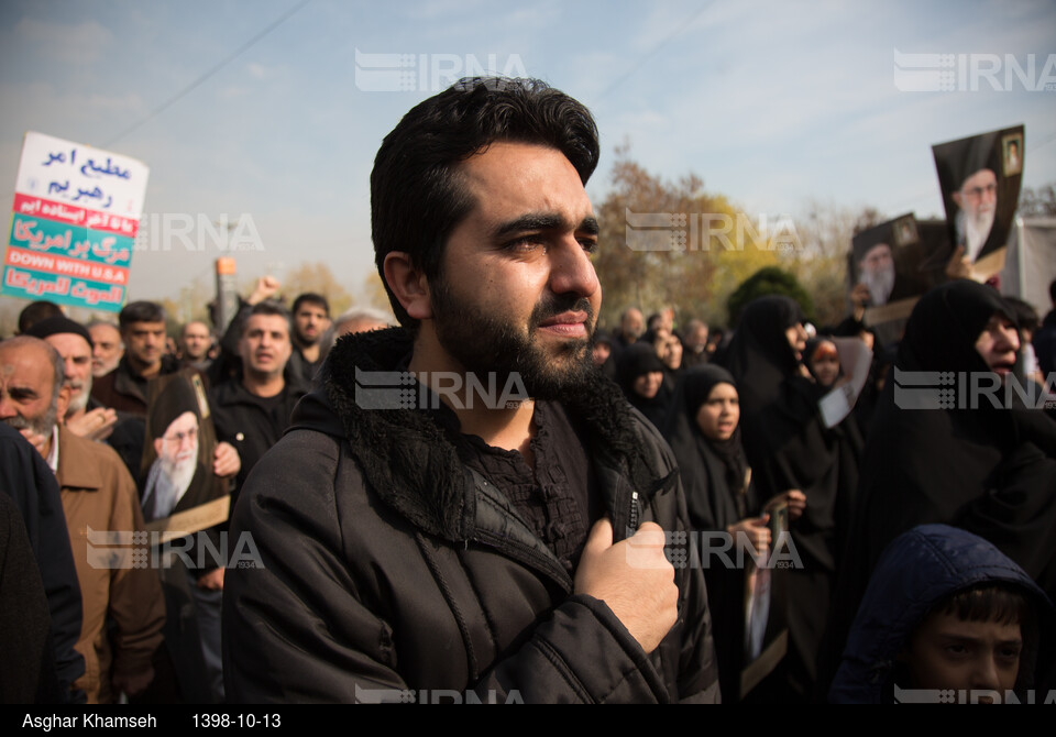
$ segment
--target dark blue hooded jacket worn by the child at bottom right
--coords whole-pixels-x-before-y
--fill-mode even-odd
[[[829,702],[889,702],[899,652],[931,609],[955,592],[998,582],[1020,586],[1035,603],[1040,642],[1034,653],[1024,653],[1016,682],[1018,688],[1034,688],[1030,670],[1052,670],[1056,632],[1052,603],[1023,569],[990,542],[947,525],[921,525],[891,542],[877,563],[829,689]]]

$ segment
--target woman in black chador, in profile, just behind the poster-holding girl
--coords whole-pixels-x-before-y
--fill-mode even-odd
[[[784,576],[782,614],[789,624],[783,672],[772,697],[812,697],[816,659],[828,616],[836,563],[858,484],[861,438],[853,422],[826,428],[824,394],[804,367],[806,333],[799,305],[761,297],[744,310],[724,362],[740,392],[745,451],[763,498],[802,491],[803,515],[791,526],[800,559]]]

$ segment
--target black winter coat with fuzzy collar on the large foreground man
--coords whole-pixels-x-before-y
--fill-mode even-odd
[[[675,568],[679,622],[646,654],[428,411],[356,404],[355,370],[392,371],[410,348],[399,329],[342,339],[251,474],[232,535],[252,532],[263,566],[224,582],[228,697],[717,701],[698,568]],[[670,450],[615,385],[594,388],[565,408],[591,430],[614,530],[685,531]]]

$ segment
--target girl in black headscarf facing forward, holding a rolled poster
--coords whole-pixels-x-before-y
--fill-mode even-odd
[[[732,536],[735,551],[746,546],[766,559],[772,543],[766,512],[770,505],[763,505],[751,483],[739,418],[737,387],[729,372],[715,365],[696,366],[679,381],[664,436],[679,464],[694,534],[725,532]],[[792,501],[790,516],[798,517],[805,497],[793,492],[774,503],[787,498]],[[706,563],[719,686],[723,702],[733,703],[743,696],[741,672],[756,654],[746,638],[746,594],[757,576],[770,572],[752,564],[728,568],[717,557]],[[766,622],[766,614],[760,620]],[[780,627],[770,624],[771,631]]]

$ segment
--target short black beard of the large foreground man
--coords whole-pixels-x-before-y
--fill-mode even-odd
[[[442,276],[433,286],[432,310],[440,344],[485,386],[488,373],[495,375],[499,389],[517,374],[528,392],[525,398],[562,400],[587,386],[597,371],[592,360],[594,307],[583,297],[559,296],[536,305],[528,319],[528,336],[457,299]],[[543,320],[569,311],[586,312],[587,337],[561,343],[548,355],[536,340],[536,330]],[[519,387],[514,384],[512,388]]]

